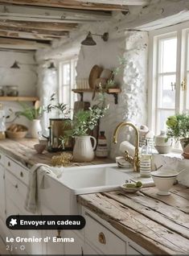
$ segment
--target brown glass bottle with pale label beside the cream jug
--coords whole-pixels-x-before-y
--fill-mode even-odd
[[[100,135],[98,136],[96,155],[97,157],[101,157],[101,158],[105,158],[109,155],[107,139],[105,137],[104,130],[101,130]]]

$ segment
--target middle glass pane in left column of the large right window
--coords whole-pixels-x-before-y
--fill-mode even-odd
[[[175,109],[175,80],[175,75],[159,76],[158,107]]]

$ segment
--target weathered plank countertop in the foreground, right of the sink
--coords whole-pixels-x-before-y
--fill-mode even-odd
[[[94,193],[78,201],[152,254],[189,254],[189,188],[177,184],[171,196],[156,192]]]

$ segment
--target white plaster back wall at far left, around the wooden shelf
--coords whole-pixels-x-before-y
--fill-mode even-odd
[[[20,69],[10,68],[17,60]],[[2,52],[0,51],[0,85],[18,85],[19,96],[36,96],[37,93],[37,72],[34,60],[34,52]],[[2,101],[6,114],[10,114],[9,109],[14,112],[22,109],[18,102]],[[31,102],[27,104],[31,105]],[[6,126],[14,120],[14,114],[7,119]],[[27,118],[17,118],[14,122],[30,126]]]

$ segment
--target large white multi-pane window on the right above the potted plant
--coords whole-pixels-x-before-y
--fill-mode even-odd
[[[158,134],[166,118],[189,111],[189,23],[150,32],[149,126]]]

